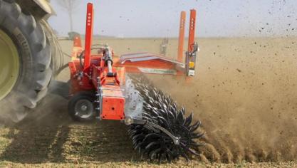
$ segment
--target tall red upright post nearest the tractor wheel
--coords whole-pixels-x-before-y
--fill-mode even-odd
[[[88,70],[90,68],[90,54],[93,39],[93,4],[88,3],[87,7],[87,19],[85,25],[85,65],[83,70]]]

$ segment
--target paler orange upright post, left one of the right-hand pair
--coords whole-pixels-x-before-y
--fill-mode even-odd
[[[180,23],[179,23],[179,43],[178,43],[178,53],[177,61],[184,62],[184,25],[186,21],[186,12],[182,11],[180,13]]]

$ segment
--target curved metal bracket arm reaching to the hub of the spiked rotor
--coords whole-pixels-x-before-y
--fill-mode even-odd
[[[155,127],[157,130],[160,130],[162,132],[164,132],[166,135],[170,136],[171,139],[173,140],[174,145],[179,145],[179,137],[175,137],[174,135],[172,135],[171,132],[169,132],[168,130],[166,130],[164,127],[161,127],[160,125],[156,125],[153,122],[149,122],[147,120],[141,120],[141,119],[135,119],[132,117],[127,117],[125,120],[125,125],[144,125],[144,126],[149,126],[149,127]]]

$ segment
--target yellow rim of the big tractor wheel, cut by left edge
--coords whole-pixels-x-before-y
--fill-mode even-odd
[[[0,29],[0,100],[14,88],[19,71],[18,50],[11,38]]]

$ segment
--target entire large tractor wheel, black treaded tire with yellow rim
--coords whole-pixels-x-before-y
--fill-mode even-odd
[[[51,47],[40,21],[0,0],[0,115],[17,122],[36,107],[53,74]]]

